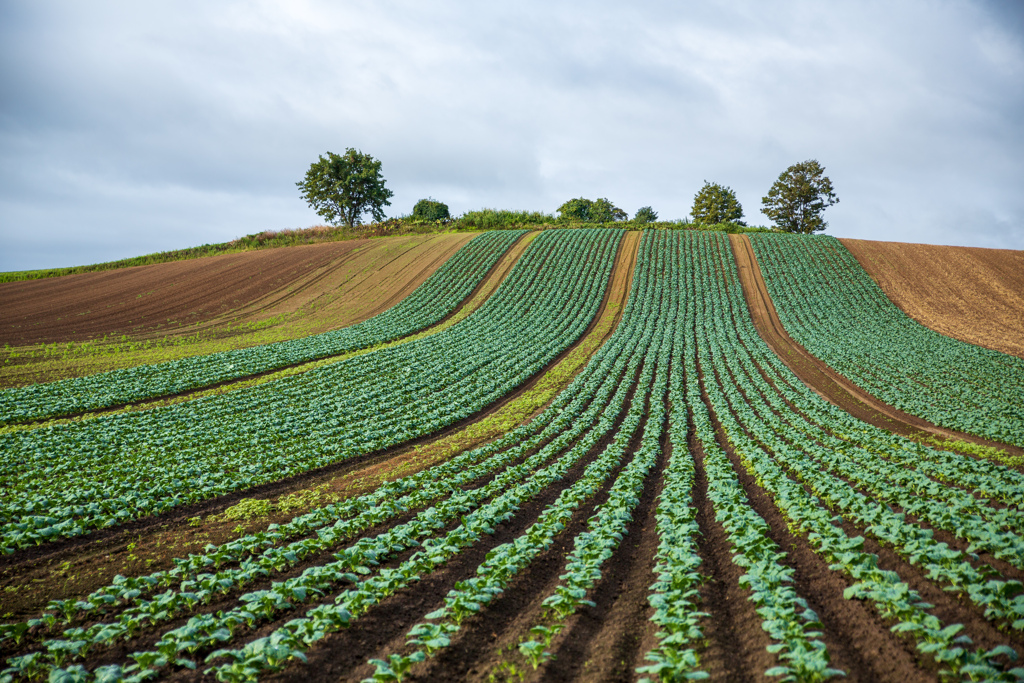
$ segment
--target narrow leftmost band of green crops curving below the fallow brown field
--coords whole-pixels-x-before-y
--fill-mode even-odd
[[[416,291],[357,325],[302,339],[5,389],[0,391],[0,425],[190,391],[404,337],[452,312],[524,232],[495,230],[473,238]]]

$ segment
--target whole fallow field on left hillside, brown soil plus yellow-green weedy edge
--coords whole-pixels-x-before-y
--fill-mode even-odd
[[[353,325],[408,296],[472,237],[351,240],[0,283],[0,387]]]

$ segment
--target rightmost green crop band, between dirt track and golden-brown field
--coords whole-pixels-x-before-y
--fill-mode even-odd
[[[782,324],[808,351],[902,411],[1024,445],[1024,360],[913,321],[835,238],[751,242]]]

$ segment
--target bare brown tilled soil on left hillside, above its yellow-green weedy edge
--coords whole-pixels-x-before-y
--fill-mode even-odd
[[[0,284],[0,344],[194,335],[296,312],[327,328],[411,293],[474,236],[350,240]]]

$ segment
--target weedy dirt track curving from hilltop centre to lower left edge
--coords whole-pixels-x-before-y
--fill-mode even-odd
[[[132,575],[167,568],[172,565],[174,557],[198,552],[208,543],[220,544],[236,538],[238,533],[233,528],[240,525],[238,521],[211,520],[210,517],[222,513],[244,498],[275,499],[319,487],[325,488],[326,495],[341,498],[357,496],[376,488],[383,481],[418,472],[457,453],[482,445],[505,433],[511,428],[511,423],[528,420],[542,411],[547,401],[526,400],[525,405],[517,405],[518,399],[529,396],[538,388],[544,389],[542,396],[557,393],[614,331],[629,295],[639,246],[639,233],[630,232],[624,238],[605,298],[580,340],[523,385],[480,414],[439,433],[383,452],[182,506],[156,517],[133,520],[115,528],[0,557],[0,590],[17,589],[16,592],[3,593],[4,611],[12,611],[18,617],[31,616],[49,600],[82,596],[110,584],[117,573]],[[499,266],[504,261],[499,261]],[[501,274],[507,274],[510,268],[511,263],[507,263]],[[492,283],[492,291],[497,285]],[[475,298],[471,295],[469,300],[472,302]],[[562,362],[570,359],[567,370],[562,370]],[[557,380],[553,381],[549,374],[557,375]],[[255,522],[242,523],[241,526],[245,532],[253,532],[269,523],[288,521],[301,512],[275,513]],[[202,523],[194,526],[189,520],[197,517],[202,518]],[[140,558],[154,561],[143,564]]]

